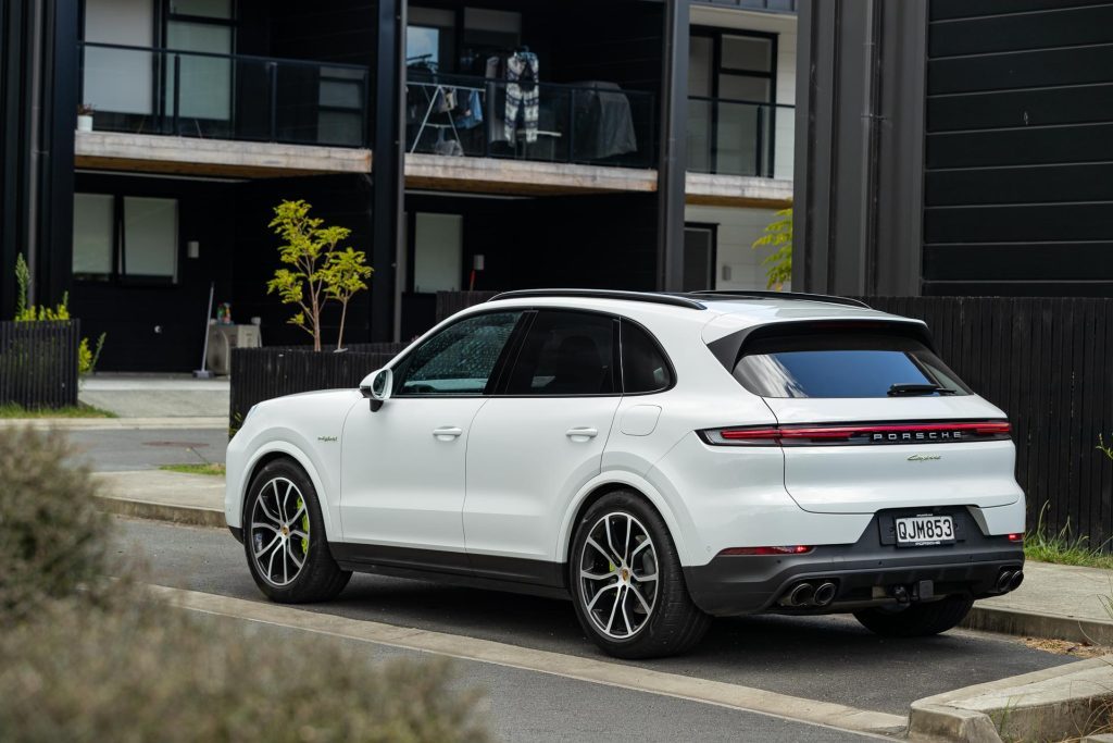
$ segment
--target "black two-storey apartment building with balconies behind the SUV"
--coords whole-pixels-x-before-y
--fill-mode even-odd
[[[795,0],[10,0],[0,33],[0,315],[22,253],[102,369],[196,366],[210,287],[304,342],[284,198],[368,254],[353,342],[437,291],[764,289],[791,203]]]

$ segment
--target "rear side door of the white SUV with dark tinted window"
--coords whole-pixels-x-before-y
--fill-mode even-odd
[[[618,320],[540,310],[472,423],[464,534],[480,575],[553,576],[567,504],[600,471],[618,409]]]

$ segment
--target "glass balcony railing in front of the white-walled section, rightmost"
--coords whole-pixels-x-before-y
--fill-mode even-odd
[[[688,99],[688,172],[792,178],[794,106]]]

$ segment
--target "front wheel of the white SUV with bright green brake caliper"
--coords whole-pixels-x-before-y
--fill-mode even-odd
[[[352,573],[328,551],[317,491],[305,471],[277,459],[256,473],[247,492],[244,554],[259,590],[280,604],[335,598]]]

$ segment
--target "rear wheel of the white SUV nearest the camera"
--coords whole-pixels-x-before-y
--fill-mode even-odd
[[[615,657],[683,653],[711,624],[688,595],[664,521],[630,490],[603,496],[578,522],[569,586],[580,626]]]

